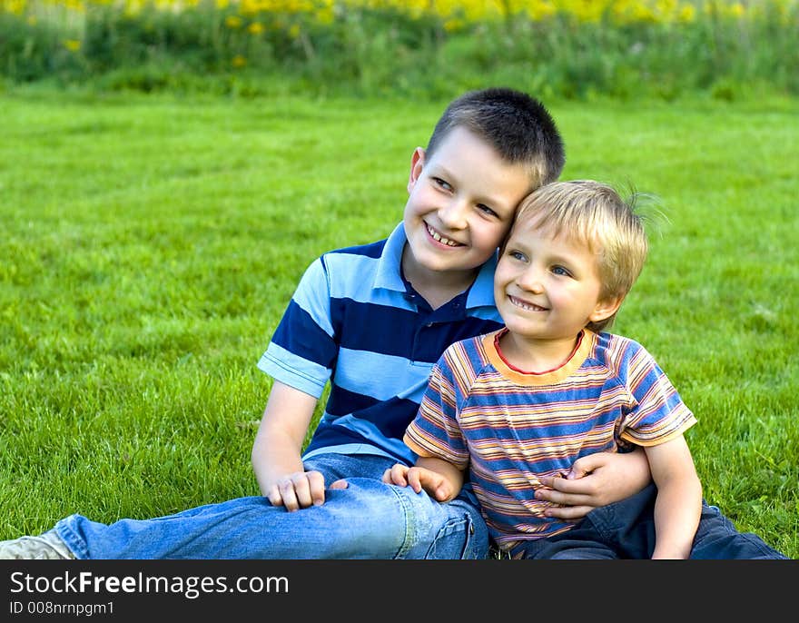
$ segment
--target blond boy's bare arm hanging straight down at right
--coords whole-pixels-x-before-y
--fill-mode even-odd
[[[653,559],[687,559],[702,512],[702,485],[685,437],[646,446],[657,486]]]

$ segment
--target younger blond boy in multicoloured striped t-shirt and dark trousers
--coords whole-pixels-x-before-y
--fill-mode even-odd
[[[444,351],[404,437],[416,466],[384,480],[446,501],[468,473],[491,539],[512,558],[781,558],[705,511],[684,436],[694,414],[643,346],[605,331],[647,246],[633,204],[606,184],[531,193],[494,275],[505,326]],[[631,447],[644,449],[656,491],[579,526],[539,498],[577,460]]]

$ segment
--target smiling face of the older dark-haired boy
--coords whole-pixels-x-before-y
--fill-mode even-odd
[[[403,221],[406,276],[435,282],[446,273],[467,287],[497,250],[530,190],[522,164],[509,164],[477,135],[453,129],[429,157],[413,154]],[[410,277],[409,277],[410,278]]]

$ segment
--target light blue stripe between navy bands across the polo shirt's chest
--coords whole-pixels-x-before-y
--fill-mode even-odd
[[[336,385],[347,391],[388,401],[394,396],[421,401],[432,363],[413,363],[404,357],[341,348]]]

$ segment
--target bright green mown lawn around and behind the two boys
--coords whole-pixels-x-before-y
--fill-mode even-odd
[[[0,96],[0,539],[257,494],[255,363],[308,263],[400,220],[445,104]],[[564,178],[660,198],[614,329],[695,410],[708,501],[799,558],[799,105],[549,107]]]

